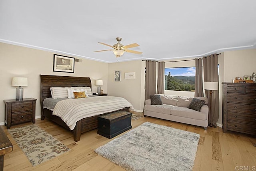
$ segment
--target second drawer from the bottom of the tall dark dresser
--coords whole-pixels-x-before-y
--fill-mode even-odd
[[[256,115],[246,113],[235,113],[228,111],[228,120],[251,123],[256,125]]]

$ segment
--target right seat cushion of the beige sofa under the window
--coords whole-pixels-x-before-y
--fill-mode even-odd
[[[186,107],[175,106],[171,110],[171,115],[188,117],[192,119],[206,120],[206,113],[195,111],[193,109],[188,109]]]

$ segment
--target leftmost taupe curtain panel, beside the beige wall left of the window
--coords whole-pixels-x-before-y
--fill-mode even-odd
[[[156,61],[146,61],[145,100],[156,94]]]

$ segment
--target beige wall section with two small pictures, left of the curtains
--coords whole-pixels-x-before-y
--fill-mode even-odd
[[[108,64],[108,94],[124,97],[132,103],[135,111],[141,112],[144,108],[143,76],[145,76],[142,63],[145,62],[136,60]],[[120,82],[114,81],[114,71],[121,71]],[[124,79],[125,72],[135,72],[135,79]]]

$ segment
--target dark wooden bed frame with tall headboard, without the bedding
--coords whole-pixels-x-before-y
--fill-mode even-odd
[[[79,141],[81,134],[92,129],[98,128],[98,116],[112,113],[114,111],[103,113],[96,116],[86,117],[76,122],[76,126],[71,130],[62,119],[56,115],[52,115],[52,110],[43,108],[44,99],[51,97],[50,87],[92,87],[91,80],[88,77],[69,77],[69,76],[49,76],[40,75],[40,104],[41,104],[41,120],[48,118],[58,125],[74,133],[74,141]],[[124,107],[115,111],[130,111],[130,107]]]

